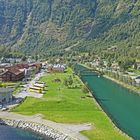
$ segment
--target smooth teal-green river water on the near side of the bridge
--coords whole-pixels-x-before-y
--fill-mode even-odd
[[[128,135],[140,140],[140,96],[103,77],[83,75],[81,79],[88,84],[112,121]]]

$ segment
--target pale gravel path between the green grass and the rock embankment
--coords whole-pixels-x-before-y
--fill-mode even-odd
[[[83,136],[79,132],[83,130],[92,129],[91,124],[62,124],[62,123],[56,123],[53,121],[45,120],[45,119],[42,119],[41,114],[37,114],[33,116],[25,116],[25,115],[20,115],[16,113],[0,112],[0,118],[22,120],[22,121],[27,121],[27,122],[36,122],[36,123],[45,124],[46,126],[56,129],[59,132],[67,134],[78,140],[88,140],[87,137]]]

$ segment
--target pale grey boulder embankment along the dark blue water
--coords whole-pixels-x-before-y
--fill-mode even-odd
[[[63,134],[44,124],[25,122],[21,120],[0,119],[0,125],[8,125],[15,128],[30,130],[54,140],[75,140],[74,138],[71,138],[70,136],[67,136],[66,134]]]

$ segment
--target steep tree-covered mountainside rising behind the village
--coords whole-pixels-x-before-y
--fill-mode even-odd
[[[139,59],[140,1],[0,0],[0,45],[0,56],[79,55],[117,46],[116,57],[129,50]]]

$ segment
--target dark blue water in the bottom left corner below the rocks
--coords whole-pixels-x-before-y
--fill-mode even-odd
[[[50,140],[33,132],[0,125],[0,140]]]

